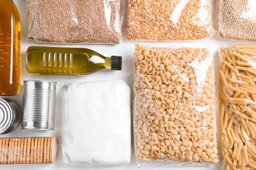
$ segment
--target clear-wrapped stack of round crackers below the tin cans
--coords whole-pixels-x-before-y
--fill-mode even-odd
[[[53,163],[56,137],[0,138],[0,164]]]

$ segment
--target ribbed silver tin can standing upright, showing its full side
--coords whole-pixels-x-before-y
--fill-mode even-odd
[[[24,81],[22,129],[53,130],[56,82]]]

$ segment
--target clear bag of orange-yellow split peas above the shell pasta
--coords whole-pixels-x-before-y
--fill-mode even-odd
[[[127,40],[196,40],[213,35],[209,0],[128,0]]]

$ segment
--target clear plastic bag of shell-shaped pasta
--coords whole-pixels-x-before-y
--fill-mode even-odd
[[[137,45],[134,94],[139,165],[153,161],[171,165],[219,161],[215,73],[207,48]]]

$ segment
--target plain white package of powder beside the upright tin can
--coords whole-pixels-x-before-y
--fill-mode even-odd
[[[130,163],[130,88],[123,80],[64,88],[62,160],[88,167]]]

